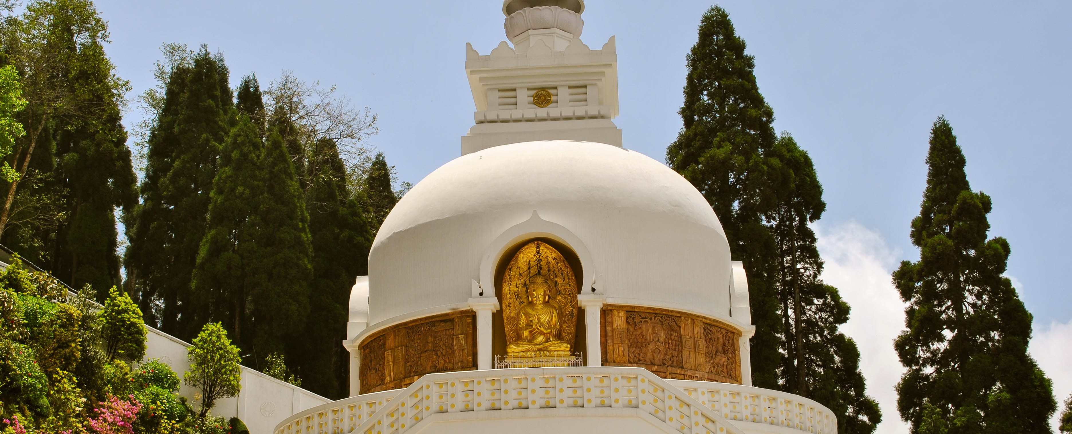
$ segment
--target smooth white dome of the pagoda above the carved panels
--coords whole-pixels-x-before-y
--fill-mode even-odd
[[[369,255],[370,326],[466,309],[474,281],[493,296],[489,264],[542,236],[577,252],[582,294],[729,318],[729,244],[703,196],[639,152],[551,140],[458,158],[398,203]]]

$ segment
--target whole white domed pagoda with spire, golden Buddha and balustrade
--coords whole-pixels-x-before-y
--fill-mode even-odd
[[[684,178],[622,146],[614,39],[583,0],[506,0],[467,47],[462,156],[387,216],[349,300],[349,398],[298,433],[836,433],[751,387],[748,283]]]

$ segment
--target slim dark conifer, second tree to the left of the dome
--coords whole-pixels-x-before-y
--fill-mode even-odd
[[[321,168],[307,197],[313,244],[313,284],[300,361],[304,387],[328,398],[344,398],[349,353],[346,339],[349,289],[354,276],[368,274],[372,231],[361,206],[348,192],[346,168],[334,141],[321,139],[314,162]]]

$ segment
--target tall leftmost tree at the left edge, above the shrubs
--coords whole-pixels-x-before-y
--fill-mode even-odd
[[[107,23],[87,0],[39,0],[2,34],[29,100],[28,134],[9,149],[4,243],[103,301],[120,280],[114,209],[137,198],[119,108],[130,85],[105,56]]]

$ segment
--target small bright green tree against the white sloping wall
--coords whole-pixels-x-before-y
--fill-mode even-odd
[[[200,417],[215,400],[234,396],[241,389],[238,347],[230,344],[219,323],[206,324],[189,349],[190,371],[183,374],[187,385],[202,391]]]

